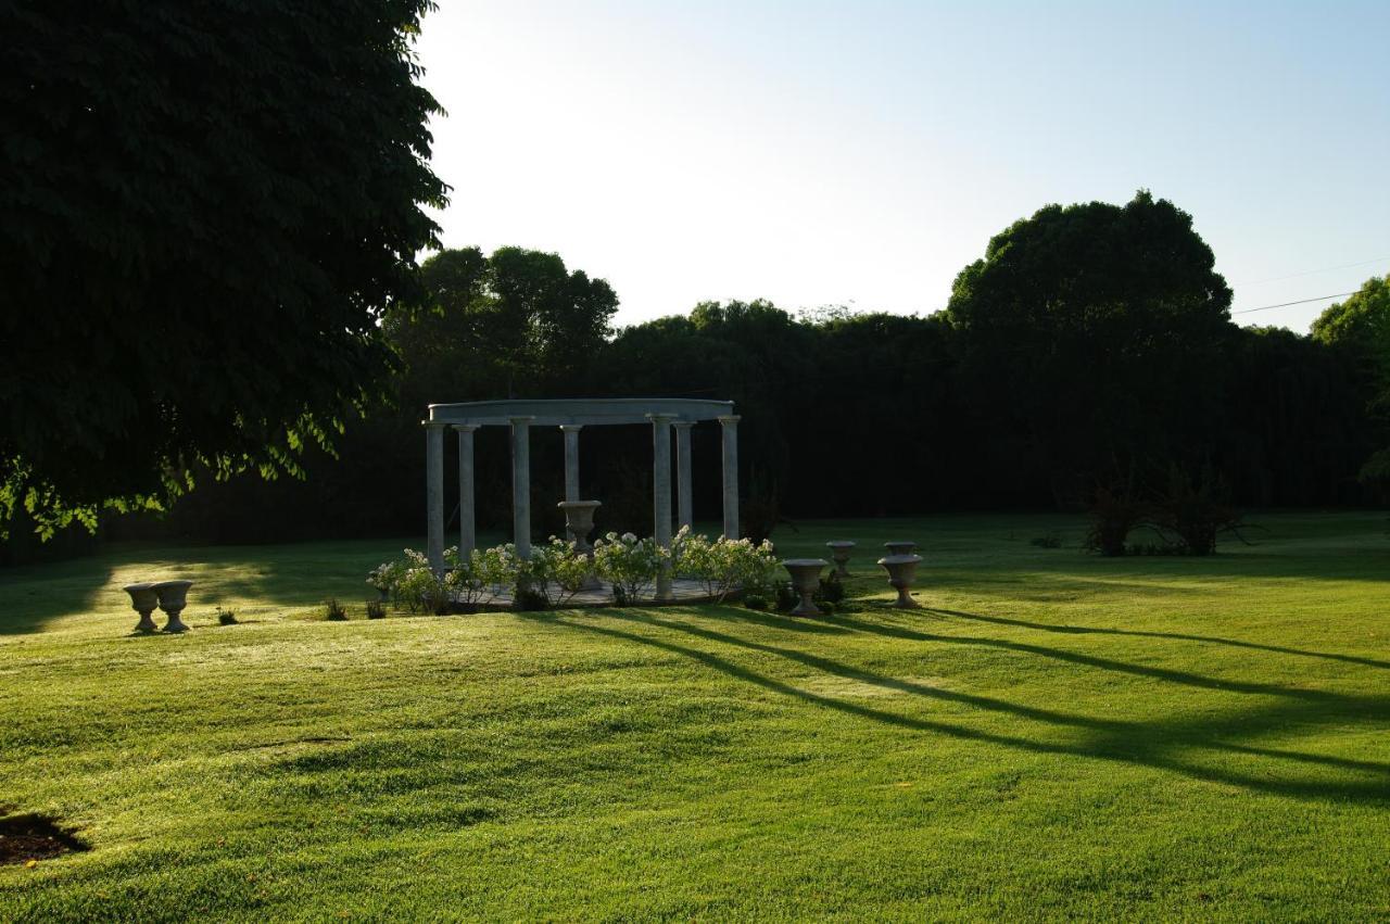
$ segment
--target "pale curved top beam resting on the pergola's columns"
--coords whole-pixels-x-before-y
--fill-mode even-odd
[[[677,421],[717,420],[734,413],[733,402],[705,402],[685,397],[564,397],[555,400],[514,399],[431,404],[431,424],[510,424],[530,417],[531,424],[645,424],[649,414]]]

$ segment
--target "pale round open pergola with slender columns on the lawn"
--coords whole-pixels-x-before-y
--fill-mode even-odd
[[[431,404],[425,425],[430,564],[443,570],[443,434],[459,434],[459,552],[477,546],[473,435],[480,427],[512,428],[512,535],[517,554],[531,556],[531,427],[564,432],[564,499],[580,497],[580,431],[610,424],[652,425],[652,502],[656,542],[671,545],[671,431],[676,431],[676,495],[681,525],[691,525],[691,428],[719,421],[724,443],[724,535],[738,536],[738,417],[733,402],[678,397],[595,397]]]

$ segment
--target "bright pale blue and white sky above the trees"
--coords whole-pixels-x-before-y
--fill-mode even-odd
[[[1233,311],[1354,290],[1390,272],[1387,36],[1390,0],[441,0],[417,53],[445,246],[559,253],[637,324],[930,314],[1013,221],[1140,188]]]

